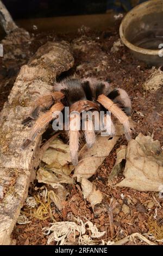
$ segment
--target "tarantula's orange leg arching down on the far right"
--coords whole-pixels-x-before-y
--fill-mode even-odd
[[[131,138],[131,129],[127,115],[121,110],[121,108],[112,102],[112,100],[103,94],[98,96],[97,101],[101,103],[101,105],[106,109],[108,109],[112,114],[114,114],[115,117],[120,121],[124,127],[124,134],[129,141]]]

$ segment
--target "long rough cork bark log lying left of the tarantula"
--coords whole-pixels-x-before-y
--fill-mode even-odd
[[[41,131],[26,150],[21,150],[30,127],[22,120],[30,103],[53,88],[55,78],[73,66],[70,46],[62,41],[43,45],[23,65],[0,115],[0,245],[10,244],[10,234],[27,197],[29,181],[39,164]]]

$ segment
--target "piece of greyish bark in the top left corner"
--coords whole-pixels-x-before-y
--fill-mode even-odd
[[[2,3],[2,1],[0,1],[0,22],[2,27],[4,28],[5,33],[7,34],[17,28],[15,22],[12,20],[11,15],[9,14],[9,11]]]

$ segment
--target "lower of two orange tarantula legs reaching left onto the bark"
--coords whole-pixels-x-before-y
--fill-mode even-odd
[[[46,113],[43,113],[40,115],[40,117],[36,120],[32,131],[30,131],[29,137],[24,141],[22,145],[22,149],[25,149],[28,147],[28,145],[34,141],[37,133],[43,129],[52,119],[57,118],[59,113],[62,111],[64,108],[64,105],[61,102],[55,103],[49,111]]]

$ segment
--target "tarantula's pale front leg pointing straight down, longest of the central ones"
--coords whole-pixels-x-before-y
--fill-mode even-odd
[[[79,149],[79,130],[80,130],[80,114],[76,112],[70,113],[70,155],[72,164],[78,164],[78,149]]]

